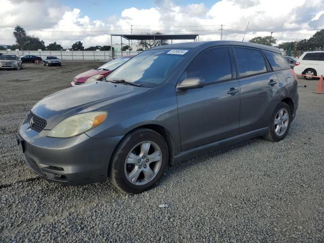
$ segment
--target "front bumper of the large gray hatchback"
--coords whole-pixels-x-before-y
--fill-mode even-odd
[[[93,139],[81,134],[71,138],[51,138],[47,137],[49,130],[38,133],[26,120],[18,131],[17,142],[26,163],[39,176],[67,185],[107,179],[110,158],[122,136]]]

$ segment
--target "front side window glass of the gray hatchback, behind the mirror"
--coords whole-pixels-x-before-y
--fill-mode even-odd
[[[206,84],[232,78],[228,48],[215,48],[198,54],[187,67],[183,78],[204,77]]]

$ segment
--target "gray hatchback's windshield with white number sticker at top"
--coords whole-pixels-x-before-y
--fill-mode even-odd
[[[125,80],[147,88],[165,82],[179,64],[190,53],[190,49],[157,49],[138,54],[118,67],[108,80]]]

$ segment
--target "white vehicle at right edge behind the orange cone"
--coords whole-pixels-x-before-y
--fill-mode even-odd
[[[304,74],[305,79],[315,79],[317,75],[324,74],[324,52],[304,52],[297,60],[294,71]]]

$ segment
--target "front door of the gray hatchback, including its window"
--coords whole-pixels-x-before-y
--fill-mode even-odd
[[[238,134],[239,82],[229,47],[198,54],[182,74],[203,77],[205,87],[177,92],[182,151]]]

